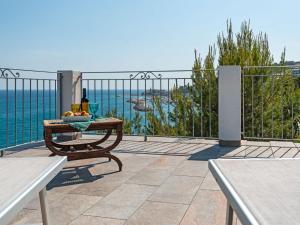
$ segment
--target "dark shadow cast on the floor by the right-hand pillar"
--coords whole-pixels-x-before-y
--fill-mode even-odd
[[[213,145],[196,153],[193,153],[188,160],[208,161],[209,159],[222,158],[226,154],[238,149],[240,147],[221,147],[220,145]]]

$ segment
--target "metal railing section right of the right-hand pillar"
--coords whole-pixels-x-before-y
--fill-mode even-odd
[[[299,140],[300,76],[297,66],[242,70],[242,121],[246,139]]]

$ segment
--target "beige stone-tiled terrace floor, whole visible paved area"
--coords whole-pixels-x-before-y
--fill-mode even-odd
[[[150,138],[145,143],[128,137],[114,152],[123,162],[122,172],[106,159],[66,164],[48,185],[52,224],[224,224],[226,200],[207,160],[299,157],[299,148],[290,142],[243,142],[239,148],[221,148],[213,140]],[[35,147],[6,157],[48,154],[45,147]],[[39,222],[35,199],[13,224]]]

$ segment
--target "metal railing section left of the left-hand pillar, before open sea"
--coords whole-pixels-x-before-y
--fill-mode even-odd
[[[43,139],[43,119],[56,118],[56,87],[56,72],[0,68],[0,149]]]

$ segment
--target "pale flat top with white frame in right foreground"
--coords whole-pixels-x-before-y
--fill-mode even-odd
[[[242,224],[300,224],[300,159],[214,159],[209,169]]]

